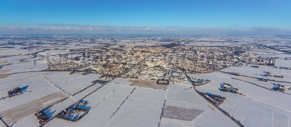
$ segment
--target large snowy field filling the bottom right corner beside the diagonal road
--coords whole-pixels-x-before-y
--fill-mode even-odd
[[[249,96],[241,96],[200,87],[197,89],[202,92],[226,95],[226,100],[220,105],[220,108],[228,112],[235,119],[241,121],[244,126],[290,126],[288,121],[290,120],[291,113],[288,110]]]

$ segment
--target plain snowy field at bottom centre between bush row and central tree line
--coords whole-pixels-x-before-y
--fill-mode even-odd
[[[165,90],[136,87],[106,126],[158,126]]]

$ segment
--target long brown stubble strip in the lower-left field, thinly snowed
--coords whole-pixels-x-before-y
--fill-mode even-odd
[[[33,115],[42,108],[59,103],[62,99],[65,99],[66,97],[68,97],[68,94],[65,94],[62,91],[55,92],[39,99],[30,101],[28,103],[18,105],[16,107],[0,112],[0,117],[2,117],[9,125],[11,125],[16,121],[20,121],[26,117],[29,117],[30,115]],[[46,102],[49,102],[56,98],[59,99],[45,105]]]

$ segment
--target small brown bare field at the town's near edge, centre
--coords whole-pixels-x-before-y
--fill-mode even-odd
[[[156,84],[156,81],[135,79],[130,85],[132,86],[141,86],[146,88],[157,88],[157,89],[167,89],[167,85]]]

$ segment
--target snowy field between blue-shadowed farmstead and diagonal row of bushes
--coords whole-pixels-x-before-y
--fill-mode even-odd
[[[110,85],[110,84],[108,84]],[[106,86],[106,85],[105,85]],[[104,86],[104,87],[105,87]],[[117,87],[116,87],[117,86]],[[80,119],[74,126],[105,126],[105,124],[108,123],[111,116],[113,115],[113,112],[118,110],[120,105],[123,103],[123,101],[127,98],[127,96],[130,95],[130,92],[134,89],[134,87],[129,86],[123,86],[123,85],[111,85],[105,89],[110,88],[116,88],[113,91],[110,91],[111,93],[103,93],[105,97],[99,98],[98,101],[93,101],[93,103],[90,104],[90,100],[92,100],[95,93],[89,95],[84,100],[88,100],[89,104],[92,105],[92,109],[88,112],[87,115],[85,115],[82,119]],[[101,89],[96,91],[96,94],[98,94],[98,91],[101,91]],[[103,96],[104,96],[103,95]],[[87,99],[88,98],[88,99]],[[90,99],[91,98],[91,99]],[[95,104],[98,102],[97,104]],[[126,103],[127,100],[124,102]],[[123,107],[123,105],[121,106]],[[115,114],[118,114],[116,112]]]

